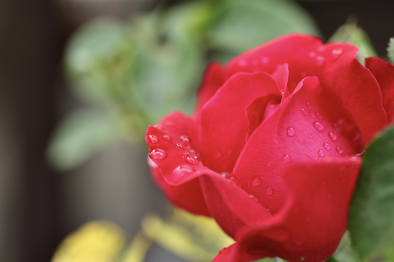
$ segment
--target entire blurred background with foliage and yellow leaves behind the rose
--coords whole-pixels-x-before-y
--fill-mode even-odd
[[[232,240],[169,207],[149,175],[146,126],[192,112],[208,62],[285,33],[387,59],[393,10],[381,0],[0,1],[0,261],[49,262],[60,243],[52,261],[210,261]],[[96,249],[105,254],[67,258]]]

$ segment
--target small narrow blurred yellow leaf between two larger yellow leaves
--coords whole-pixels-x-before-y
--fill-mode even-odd
[[[141,232],[134,236],[121,262],[143,262],[152,241]]]

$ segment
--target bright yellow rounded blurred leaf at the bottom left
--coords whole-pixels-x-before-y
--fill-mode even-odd
[[[112,222],[87,222],[60,243],[52,262],[112,262],[125,242],[125,233]]]

